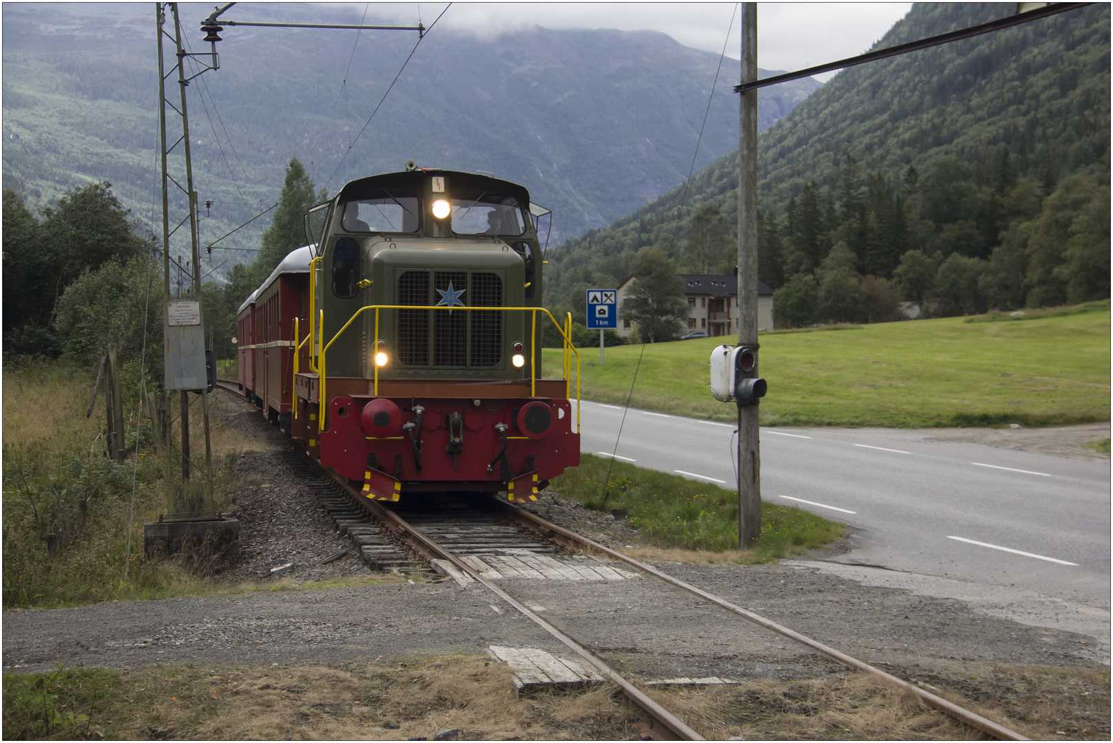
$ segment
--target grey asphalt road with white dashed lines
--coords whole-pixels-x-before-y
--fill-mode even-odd
[[[735,426],[584,400],[582,450],[733,489]],[[1110,607],[1110,466],[930,432],[761,428],[761,496],[850,526],[838,562]]]

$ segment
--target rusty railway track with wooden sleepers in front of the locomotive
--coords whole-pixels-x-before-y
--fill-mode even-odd
[[[218,386],[240,395],[236,383],[221,379],[218,380]],[[792,640],[855,670],[875,674],[916,694],[926,705],[981,733],[1003,741],[1028,740],[1015,731],[925,688],[684,583],[651,565],[551,524],[512,504],[494,498],[460,498],[449,494],[437,494],[433,496],[433,502],[424,507],[393,504],[393,507],[388,508],[378,502],[363,497],[357,486],[335,473],[322,468],[316,460],[302,453],[290,450],[287,455],[287,462],[296,474],[305,477],[306,485],[316,495],[321,507],[333,519],[337,531],[352,539],[354,548],[358,551],[361,558],[368,567],[380,571],[395,569],[408,574],[436,572],[461,583],[482,584],[521,614],[543,627],[587,663],[598,668],[633,704],[639,706],[644,712],[644,716],[636,726],[643,740],[703,739],[680,719],[623,678],[602,660],[494,583],[494,579],[498,578],[493,576],[499,576],[499,573],[492,573],[492,565],[495,566],[495,569],[504,572],[506,569],[496,562],[500,557],[518,563],[516,569],[543,571],[548,566],[550,571],[560,571],[569,568],[564,567],[567,562],[561,563],[555,559],[559,555],[575,555],[584,552],[604,555],[611,561],[624,563],[641,573],[715,604],[735,616]],[[523,563],[526,568],[521,567]],[[508,565],[508,567],[510,571],[515,569],[513,565]]]

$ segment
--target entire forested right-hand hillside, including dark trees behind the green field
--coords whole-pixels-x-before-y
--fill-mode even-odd
[[[876,46],[1012,11],[917,4]],[[899,299],[953,314],[1109,296],[1109,6],[844,70],[758,141],[759,275],[780,325],[889,319]],[[692,238],[709,217],[737,225],[737,184],[736,151],[687,196],[550,251],[551,304],[617,284],[643,246],[701,270]],[[728,234],[713,262],[736,251]]]

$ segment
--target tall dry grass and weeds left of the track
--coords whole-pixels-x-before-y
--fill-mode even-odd
[[[151,446],[146,406],[125,380],[129,455],[122,464],[107,458],[102,396],[86,417],[92,377],[40,363],[3,370],[4,608],[214,590],[204,575],[174,559],[146,559],[144,523],[166,511],[162,457]],[[226,509],[235,454],[258,445],[219,426],[211,442],[214,492],[217,507]],[[193,444],[204,452],[200,426]],[[58,537],[52,556],[48,535]]]

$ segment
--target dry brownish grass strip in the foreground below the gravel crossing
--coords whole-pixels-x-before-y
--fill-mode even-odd
[[[916,671],[943,695],[1034,740],[1109,740],[1109,671],[976,664]],[[902,675],[896,670],[898,675]],[[957,696],[946,690],[961,690]],[[630,740],[636,710],[607,684],[513,694],[484,657],[343,666],[151,666],[4,673],[6,740]],[[650,696],[708,740],[962,740],[969,729],[863,673]],[[969,700],[978,700],[972,705]]]

